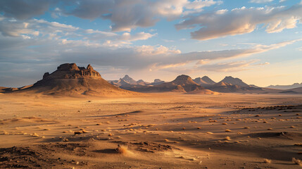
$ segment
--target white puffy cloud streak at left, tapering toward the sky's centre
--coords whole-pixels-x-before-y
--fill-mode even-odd
[[[23,37],[23,39],[31,39],[34,37],[44,37],[47,39],[61,39],[61,43],[79,42],[72,39],[80,39],[83,42],[90,41],[87,44],[96,44],[103,42],[106,46],[122,46],[131,44],[138,40],[146,40],[157,34],[148,32],[137,32],[130,34],[125,32],[122,35],[105,32],[101,30],[81,29],[73,25],[65,25],[56,22],[48,22],[46,20],[11,20],[4,18],[0,22],[0,33],[5,37]]]

